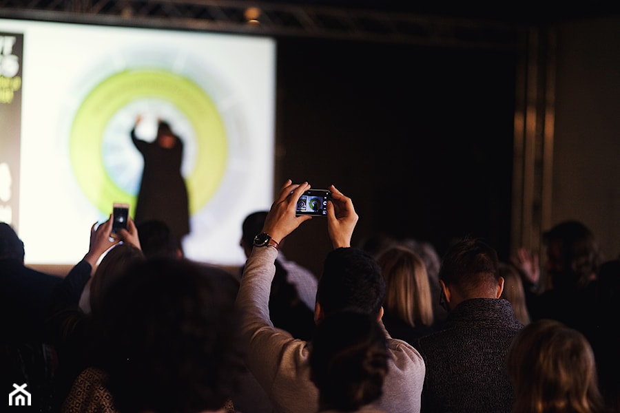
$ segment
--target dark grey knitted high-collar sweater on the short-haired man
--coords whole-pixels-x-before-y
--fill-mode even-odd
[[[426,363],[422,412],[510,412],[506,352],[523,328],[505,299],[463,301],[443,330],[417,341]]]

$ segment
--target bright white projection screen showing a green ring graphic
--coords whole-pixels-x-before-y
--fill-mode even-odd
[[[27,264],[81,260],[113,202],[134,216],[138,116],[138,138],[154,140],[161,118],[183,141],[187,257],[245,261],[242,220],[268,209],[273,190],[273,39],[3,19],[0,36],[0,221],[23,240]],[[17,87],[11,56],[20,52]],[[8,101],[9,83],[21,99]]]

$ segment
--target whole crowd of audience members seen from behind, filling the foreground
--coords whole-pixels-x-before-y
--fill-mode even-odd
[[[296,215],[309,188],[288,180],[247,215],[240,277],[184,257],[163,216],[94,224],[65,277],[25,266],[0,222],[5,388],[41,413],[620,413],[620,257],[582,222],[544,233],[544,268],[479,238],[442,260],[384,233],[355,248],[331,186],[317,279],[282,252],[313,219]]]

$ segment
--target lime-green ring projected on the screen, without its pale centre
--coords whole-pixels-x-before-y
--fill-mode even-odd
[[[223,178],[228,151],[226,129],[216,105],[203,89],[185,76],[166,70],[118,72],[96,85],[83,100],[69,138],[70,159],[79,187],[104,215],[110,213],[113,201],[135,205],[136,194],[119,188],[108,176],[101,148],[112,116],[143,98],[171,103],[194,128],[196,165],[185,178],[189,212],[194,214],[209,201]]]

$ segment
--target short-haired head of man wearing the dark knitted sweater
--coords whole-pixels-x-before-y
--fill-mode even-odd
[[[499,260],[494,248],[479,238],[455,242],[444,255],[440,279],[464,297],[495,298]]]

